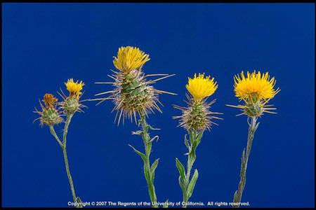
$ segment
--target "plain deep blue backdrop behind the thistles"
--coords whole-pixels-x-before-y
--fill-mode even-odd
[[[190,201],[231,202],[246,146],[246,117],[238,109],[233,76],[242,70],[269,71],[282,89],[272,99],[277,115],[259,121],[242,200],[251,207],[315,205],[315,8],[312,3],[4,3],[2,4],[2,205],[67,207],[72,201],[60,147],[48,127],[32,123],[39,98],[55,95],[67,78],[84,80],[84,98],[110,90],[107,74],[120,46],[150,54],[146,73],[176,73],[157,89],[164,113],[148,123],[162,130],[151,158],[159,202],[182,199],[175,158],[183,163],[185,130],[171,116],[184,106],[187,77],[215,77],[224,113],[197,148],[199,179]],[[132,123],[113,123],[112,102],[76,113],[67,151],[77,195],[87,202],[149,201],[143,162],[128,144],[143,151]],[[58,134],[62,125],[55,128]]]

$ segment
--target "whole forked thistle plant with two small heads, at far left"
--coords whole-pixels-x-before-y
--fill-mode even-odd
[[[72,192],[72,199],[74,200],[74,206],[79,208],[82,207],[82,202],[81,199],[77,197],[74,191],[74,183],[70,174],[66,145],[68,127],[70,125],[70,121],[72,120],[72,116],[74,116],[74,113],[76,112],[83,112],[81,108],[86,107],[81,104],[82,101],[79,101],[84,83],[82,83],[82,81],[80,83],[78,81],[74,82],[73,79],[70,79],[67,81],[67,83],[65,83],[65,85],[67,87],[67,90],[69,91],[69,96],[66,96],[60,89],[62,93],[59,94],[62,97],[63,101],[58,103],[58,99],[54,97],[53,94],[45,94],[43,99],[45,105],[39,102],[42,111],[38,111],[35,108],[34,112],[39,114],[39,118],[35,120],[40,120],[41,126],[47,125],[49,127],[51,134],[62,149],[66,172],[70,183],[70,190]],[[62,116],[66,116],[66,120],[64,120]],[[65,123],[64,131],[62,134],[62,141],[60,141],[60,138],[58,137],[54,129],[54,126],[60,123]]]

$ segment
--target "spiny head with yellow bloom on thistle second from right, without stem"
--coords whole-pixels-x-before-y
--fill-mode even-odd
[[[184,127],[185,130],[196,130],[196,131],[204,131],[205,129],[210,130],[211,124],[213,123],[211,120],[221,119],[213,114],[220,114],[214,113],[209,111],[211,104],[216,102],[214,99],[212,102],[207,103],[206,97],[209,97],[213,94],[218,85],[214,81],[214,78],[210,79],[210,76],[206,76],[204,78],[204,73],[199,73],[199,76],[196,75],[194,78],[189,78],[188,83],[185,86],[187,90],[190,92],[190,97],[186,94],[188,99],[187,107],[176,106],[173,105],[174,108],[180,109],[182,111],[181,116],[174,116],[173,119],[180,119],[179,126]]]

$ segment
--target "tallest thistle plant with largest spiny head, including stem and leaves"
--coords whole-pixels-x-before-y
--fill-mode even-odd
[[[117,57],[114,57],[114,66],[118,71],[112,71],[113,74],[110,75],[114,81],[112,82],[97,82],[97,84],[111,84],[114,89],[101,92],[96,94],[96,96],[102,94],[110,94],[108,97],[91,99],[98,100],[98,104],[105,102],[105,100],[111,99],[114,102],[114,109],[112,111],[117,111],[114,119],[114,123],[117,122],[119,125],[120,121],[128,118],[133,123],[138,123],[141,130],[137,132],[132,132],[132,134],[140,135],[143,139],[145,146],[145,153],[141,153],[136,148],[133,148],[143,160],[143,168],[145,179],[147,181],[148,193],[150,195],[150,200],[152,202],[152,207],[157,206],[157,196],[154,188],[154,172],[157,168],[159,158],[154,160],[152,165],[150,164],[150,153],[152,150],[152,142],[159,137],[150,137],[150,130],[154,129],[152,126],[147,124],[146,117],[149,113],[154,113],[154,110],[162,113],[159,108],[158,95],[162,93],[173,94],[171,92],[166,92],[163,90],[157,90],[152,87],[153,83],[158,80],[168,78],[173,75],[169,74],[147,74],[143,72],[143,64],[149,61],[149,55],[145,52],[139,50],[139,48],[134,48],[131,46],[121,47],[117,52]],[[147,79],[152,76],[162,76],[156,79]]]

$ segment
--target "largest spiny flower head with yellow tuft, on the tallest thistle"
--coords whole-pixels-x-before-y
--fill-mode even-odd
[[[107,99],[112,99],[115,106],[114,109],[117,111],[114,122],[117,120],[119,124],[121,118],[133,119],[137,122],[137,115],[147,116],[147,113],[154,112],[157,110],[162,112],[158,104],[161,104],[158,99],[158,95],[162,93],[169,93],[162,90],[155,89],[152,84],[158,80],[162,80],[169,76],[168,74],[151,74],[145,75],[142,71],[142,66],[149,60],[148,55],[140,51],[138,48],[133,47],[121,47],[117,57],[114,57],[114,65],[119,71],[113,71],[114,74],[110,76],[114,82],[98,84],[112,84],[114,90],[107,92],[101,92],[101,94],[110,94],[109,97],[92,99],[104,102]],[[150,76],[162,76],[154,80],[147,80]]]

